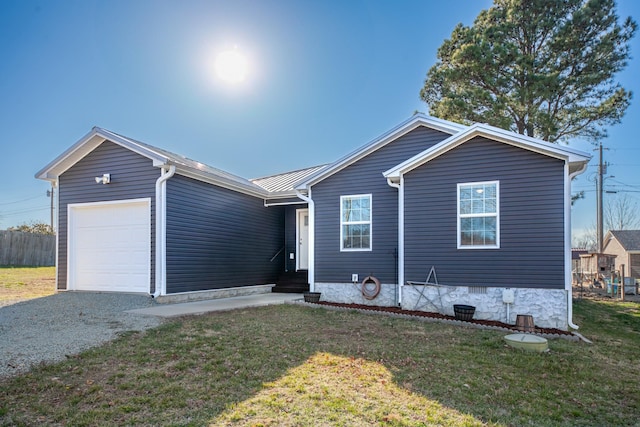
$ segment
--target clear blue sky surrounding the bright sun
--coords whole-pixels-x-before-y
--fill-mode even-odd
[[[437,48],[491,3],[4,0],[0,229],[48,223],[49,184],[34,174],[93,126],[245,178],[334,161],[428,111],[418,93]],[[211,63],[233,47],[249,74],[230,86]],[[638,37],[632,56],[619,81],[636,99],[604,141],[606,185],[640,206]],[[595,224],[595,160],[574,184],[586,190],[575,230]]]

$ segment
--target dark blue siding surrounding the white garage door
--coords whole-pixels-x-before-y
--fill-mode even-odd
[[[111,174],[111,183],[94,178]],[[58,289],[67,288],[67,206],[126,199],[151,198],[151,283],[155,283],[155,181],[160,176],[151,160],[105,141],[60,175],[58,194]]]

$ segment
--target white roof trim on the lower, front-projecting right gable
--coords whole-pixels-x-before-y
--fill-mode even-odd
[[[400,175],[433,160],[434,158],[452,150],[470,139],[475,138],[476,136],[483,136],[494,141],[564,160],[569,164],[577,163],[582,165],[591,159],[591,155],[589,153],[575,148],[559,146],[541,139],[531,138],[529,136],[520,135],[518,133],[486,124],[474,124],[469,126],[465,131],[452,135],[444,141],[416,154],[412,158],[394,166],[382,174],[387,179],[396,180]]]

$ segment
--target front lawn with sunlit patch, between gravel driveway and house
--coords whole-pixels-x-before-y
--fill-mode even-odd
[[[640,307],[577,301],[593,344],[302,306],[185,317],[0,380],[0,425],[638,425]]]

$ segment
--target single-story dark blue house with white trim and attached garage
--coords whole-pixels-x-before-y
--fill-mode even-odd
[[[567,329],[571,179],[589,159],[416,114],[330,165],[254,180],[100,128],[36,176],[59,187],[60,290],[209,296],[299,271],[324,300]],[[439,286],[416,284],[432,267]]]

